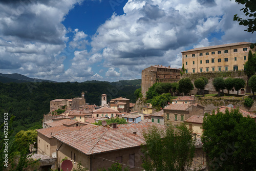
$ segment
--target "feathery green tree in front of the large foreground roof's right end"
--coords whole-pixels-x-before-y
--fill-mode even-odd
[[[143,133],[142,166],[148,170],[189,170],[195,154],[195,143],[185,124],[176,128],[165,125],[165,131],[156,126]]]

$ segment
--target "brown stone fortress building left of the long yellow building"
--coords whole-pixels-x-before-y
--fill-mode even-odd
[[[164,66],[151,66],[141,72],[141,93],[146,96],[148,88],[155,82],[177,82],[181,77],[180,69]]]

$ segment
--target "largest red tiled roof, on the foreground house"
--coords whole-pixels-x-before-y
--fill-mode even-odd
[[[119,124],[117,129],[91,126],[72,133],[57,134],[54,137],[86,155],[91,155],[140,146],[145,143],[142,135],[143,130],[152,125],[164,128],[163,125],[154,123]],[[136,135],[134,132],[136,132]]]

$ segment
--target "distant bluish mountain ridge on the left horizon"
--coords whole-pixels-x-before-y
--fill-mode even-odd
[[[47,79],[38,79],[38,78],[29,78],[22,74],[2,74],[0,73],[0,82],[8,83],[8,82],[56,82]]]

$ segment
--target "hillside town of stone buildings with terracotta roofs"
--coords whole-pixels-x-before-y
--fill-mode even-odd
[[[184,51],[183,74],[182,69],[163,65],[144,69],[141,74],[142,97],[136,103],[131,103],[130,99],[124,97],[108,101],[108,92],[101,95],[100,106],[86,103],[84,92],[81,97],[50,101],[50,113],[44,115],[43,128],[37,130],[37,154],[32,157],[40,159],[40,167],[44,169],[60,169],[61,162],[65,159],[71,161],[73,168],[80,164],[88,170],[99,170],[118,162],[123,169],[128,167],[130,170],[144,170],[141,158],[142,145],[146,143],[144,132],[152,126],[165,129],[168,124],[174,127],[185,124],[195,140],[195,154],[190,169],[207,170],[208,159],[201,140],[205,114],[231,112],[236,108],[232,100],[229,105],[205,104],[196,97],[200,94],[200,89],[194,89],[188,95],[174,93],[177,95],[175,98],[165,103],[163,108],[156,109],[152,103],[146,102],[147,92],[155,83],[179,82],[188,75],[243,71],[249,50],[255,53],[255,48],[250,49],[250,45],[250,42],[239,42]],[[213,79],[209,77],[203,90],[207,94],[218,93],[212,86]],[[222,90],[227,93],[227,90]],[[244,84],[236,91],[232,87],[228,93],[238,94],[244,99],[247,93],[245,90]],[[255,106],[252,108],[239,106],[238,109],[243,117],[249,117],[255,123],[256,115],[252,112],[255,111]],[[57,114],[57,110],[65,112]],[[107,124],[106,121],[114,118],[123,119],[127,123]]]

